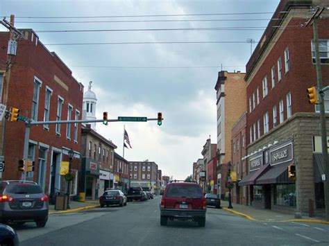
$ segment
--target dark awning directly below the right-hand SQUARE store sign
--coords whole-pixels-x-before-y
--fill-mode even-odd
[[[266,173],[256,179],[255,184],[287,184],[294,183],[294,180],[288,178],[287,166],[290,162],[271,166]]]

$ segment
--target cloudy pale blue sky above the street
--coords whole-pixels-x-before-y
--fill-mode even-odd
[[[96,118],[103,112],[111,119],[156,118],[162,112],[161,126],[156,121],[112,122],[97,123],[96,130],[122,156],[125,128],[132,146],[125,148],[125,159],[155,161],[162,175],[185,179],[203,158],[206,140],[217,143],[218,72],[245,71],[251,48],[278,3],[1,0],[0,16],[9,20],[15,15],[16,28],[35,30],[85,91],[92,81]],[[54,30],[80,31],[49,32]],[[252,47],[247,39],[255,40]]]

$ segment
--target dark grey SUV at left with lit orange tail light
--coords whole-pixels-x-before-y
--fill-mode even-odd
[[[11,180],[0,183],[0,220],[2,223],[35,222],[44,227],[48,220],[49,199],[35,182]]]

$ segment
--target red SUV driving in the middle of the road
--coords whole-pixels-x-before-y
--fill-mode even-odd
[[[160,204],[160,225],[170,220],[193,220],[205,226],[207,204],[201,186],[196,183],[171,182],[167,184]]]

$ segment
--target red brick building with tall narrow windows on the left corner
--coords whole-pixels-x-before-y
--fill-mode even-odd
[[[3,80],[3,91],[8,89],[6,106],[17,107],[19,115],[33,121],[81,119],[83,85],[72,76],[71,70],[56,53],[49,51],[31,29],[21,30],[17,54],[12,57],[10,83]],[[8,46],[9,35],[0,33],[0,46]],[[0,49],[1,62],[6,61],[7,49]],[[2,95],[6,96],[5,94]],[[21,179],[18,162],[24,156],[25,124],[21,121],[2,122],[6,168],[2,179]],[[70,193],[78,189],[78,166],[81,150],[81,124],[32,125],[28,144],[28,159],[35,161],[34,172],[28,179],[42,186],[45,193],[67,191],[67,182],[59,175],[60,161],[69,161],[68,151],[75,152],[71,169],[74,180]]]

